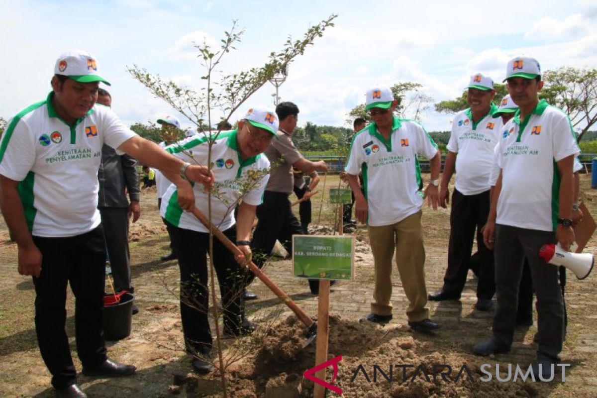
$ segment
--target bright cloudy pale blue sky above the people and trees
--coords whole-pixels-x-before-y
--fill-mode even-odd
[[[523,4],[524,3],[524,4]],[[137,64],[190,87],[204,71],[192,41],[218,42],[232,20],[245,29],[222,69],[260,66],[288,35],[338,14],[336,27],[297,58],[281,87],[282,100],[301,110],[299,125],[345,125],[346,113],[373,85],[418,82],[434,102],[451,99],[469,76],[495,81],[516,55],[536,57],[543,70],[597,66],[597,4],[571,1],[18,1],[0,0],[0,116],[10,118],[50,90],[60,53],[92,53],[112,83],[113,109],[133,122],[177,115],[127,72]],[[266,85],[233,119],[252,106],[273,108]],[[183,126],[190,125],[184,118]],[[448,130],[450,115],[423,116],[429,131]]]

